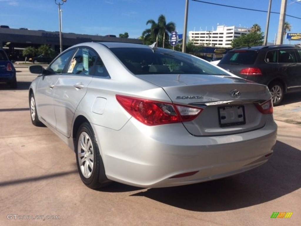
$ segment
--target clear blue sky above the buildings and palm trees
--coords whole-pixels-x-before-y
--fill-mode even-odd
[[[287,0],[286,21],[291,33],[301,33],[301,1]],[[57,3],[62,3],[57,0]],[[188,31],[216,30],[217,25],[252,27],[259,24],[265,32],[267,13],[233,7],[268,11],[269,0],[189,0]],[[62,31],[89,35],[129,33],[138,38],[150,27],[147,20],[157,22],[160,14],[167,22],[174,22],[179,34],[184,30],[186,0],[67,0],[61,6]],[[268,42],[273,42],[278,31],[281,0],[272,0]],[[58,6],[54,0],[0,0],[0,24],[11,28],[58,31]],[[288,43],[286,40],[285,43]],[[291,44],[296,44],[291,42]]]

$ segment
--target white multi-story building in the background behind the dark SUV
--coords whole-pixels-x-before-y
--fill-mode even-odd
[[[216,31],[189,31],[188,39],[194,45],[231,48],[233,39],[250,33],[249,28],[217,26]]]

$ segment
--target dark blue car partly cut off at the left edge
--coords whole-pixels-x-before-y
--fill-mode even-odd
[[[8,83],[12,89],[17,88],[16,69],[5,51],[0,49],[0,83],[2,82]]]

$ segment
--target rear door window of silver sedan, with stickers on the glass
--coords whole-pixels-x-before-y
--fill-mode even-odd
[[[67,73],[92,75],[96,58],[96,53],[91,49],[78,49],[70,62]]]

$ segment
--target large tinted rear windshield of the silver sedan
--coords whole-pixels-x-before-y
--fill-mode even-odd
[[[228,75],[226,72],[200,58],[170,49],[111,48],[110,50],[135,75]]]

